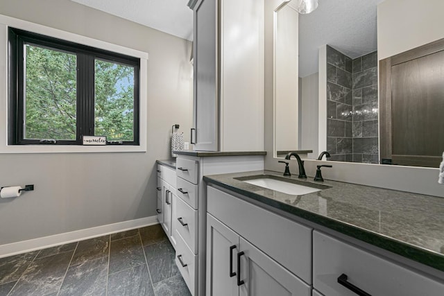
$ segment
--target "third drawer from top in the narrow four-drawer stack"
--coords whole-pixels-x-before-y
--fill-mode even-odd
[[[189,249],[197,254],[197,217],[198,211],[191,208],[186,202],[178,198],[176,200],[176,228],[187,243]]]

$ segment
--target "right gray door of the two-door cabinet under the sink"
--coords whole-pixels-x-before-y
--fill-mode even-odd
[[[278,244],[278,242],[277,242]],[[241,296],[309,296],[311,288],[282,265],[240,237]]]

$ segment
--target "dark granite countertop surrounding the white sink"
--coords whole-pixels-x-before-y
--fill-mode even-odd
[[[273,171],[255,171],[207,175],[203,179],[245,195],[247,200],[444,271],[444,198],[330,180],[321,183],[331,186],[328,189],[289,195],[235,179],[263,174],[283,177]],[[297,175],[286,178],[298,180]],[[302,182],[314,183],[311,177]]]

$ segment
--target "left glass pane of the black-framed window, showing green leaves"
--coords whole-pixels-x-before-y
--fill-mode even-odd
[[[25,44],[25,139],[76,139],[76,55]]]

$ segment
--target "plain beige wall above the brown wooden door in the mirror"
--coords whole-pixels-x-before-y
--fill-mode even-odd
[[[379,60],[444,37],[443,0],[386,0],[377,6]]]

